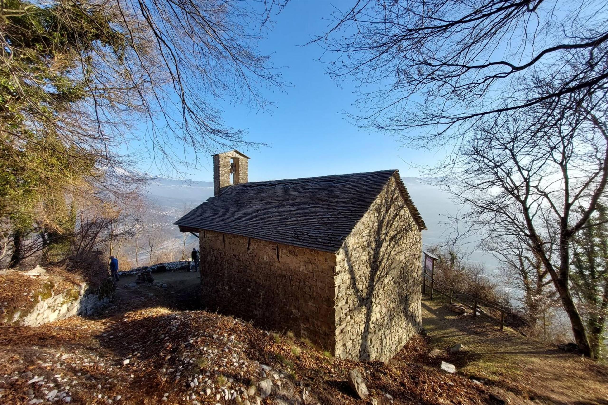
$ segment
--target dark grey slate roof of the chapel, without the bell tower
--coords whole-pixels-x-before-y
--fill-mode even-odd
[[[231,185],[174,225],[336,252],[393,175],[418,228],[426,230],[396,170]]]

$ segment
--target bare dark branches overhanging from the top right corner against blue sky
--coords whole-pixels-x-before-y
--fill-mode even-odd
[[[361,126],[443,143],[486,115],[604,94],[607,7],[603,0],[356,1],[313,42],[336,80],[361,84],[361,112],[351,116]],[[551,91],[528,91],[554,78]]]

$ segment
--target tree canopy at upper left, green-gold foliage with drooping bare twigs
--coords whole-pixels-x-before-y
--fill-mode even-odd
[[[257,50],[260,28],[280,7],[2,1],[0,217],[10,223],[13,250],[33,230],[63,234],[58,213],[75,196],[100,203],[120,196],[125,183],[141,180],[133,175],[141,158],[166,171],[196,165],[187,151],[244,143],[217,101],[263,108],[260,89],[282,85]]]

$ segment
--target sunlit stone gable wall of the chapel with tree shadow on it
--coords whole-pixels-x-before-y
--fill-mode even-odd
[[[337,253],[337,357],[387,361],[420,329],[421,251],[393,178]]]

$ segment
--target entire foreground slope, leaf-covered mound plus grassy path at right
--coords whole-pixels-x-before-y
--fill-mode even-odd
[[[443,313],[439,301],[423,302],[426,337],[411,339],[387,363],[353,362],[331,358],[289,331],[265,331],[193,310],[196,273],[158,277],[167,288],[125,288],[133,280],[123,277],[116,305],[95,318],[4,328],[0,402],[592,405],[603,404],[608,394],[603,366],[539,351],[483,321],[472,328],[470,320]],[[455,341],[470,348],[450,353]],[[441,371],[442,360],[455,364],[458,373]],[[367,382],[365,400],[356,399],[348,386],[352,369]],[[264,379],[272,382],[272,393],[262,398]],[[592,390],[580,392],[582,381]]]

